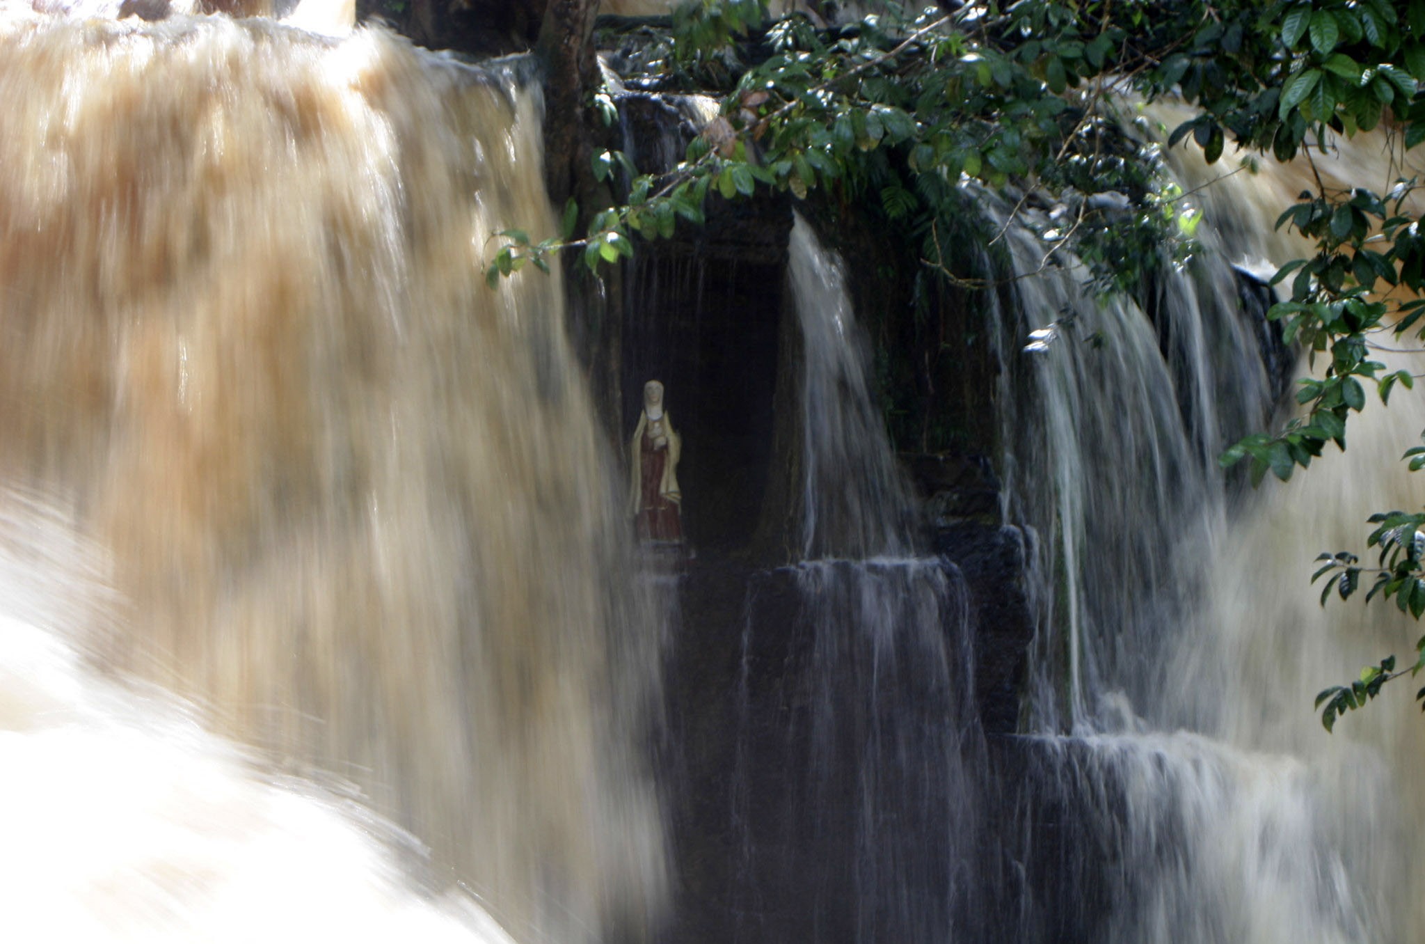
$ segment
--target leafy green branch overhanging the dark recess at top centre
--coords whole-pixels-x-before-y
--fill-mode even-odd
[[[657,67],[687,77],[690,63],[732,61],[731,47],[760,27],[754,6],[693,4],[675,19],[671,54]],[[818,33],[797,17],[772,24],[762,34],[771,56],[728,76],[721,117],[693,141],[683,163],[650,177],[617,151],[601,153],[596,177],[610,180],[610,171],[621,168],[621,201],[591,214],[579,240],[566,232],[532,244],[506,235],[487,275],[513,272],[519,260],[547,264],[549,255],[569,248],[583,248],[586,264],[597,270],[628,258],[634,237],[667,238],[680,220],[701,225],[710,190],[737,200],[760,187],[798,198],[824,190],[836,202],[871,195],[886,220],[921,235],[918,258],[942,271],[948,267],[936,224],[959,212],[963,178],[990,187],[1037,178],[1084,195],[1099,188],[1129,193],[1131,228],[1117,214],[1089,212],[1080,204],[1072,235],[1090,248],[1130,231],[1144,242],[1171,241],[1153,205],[1156,185],[1131,177],[1139,161],[1123,158],[1127,138],[1100,110],[1103,77],[1140,76],[1159,60],[1130,41],[1130,31],[1144,26],[1140,10],[1129,20],[1109,16],[1113,4],[1090,6],[1094,17],[1070,16],[1066,4],[1046,0],[1005,10],[966,6],[949,16],[933,9],[909,17],[892,13],[865,20],[855,34]],[[1153,46],[1159,56],[1184,44],[1180,30],[1164,37]],[[1074,91],[1094,76],[1100,78],[1089,94]],[[613,120],[607,90],[594,96],[594,107],[606,124]],[[1110,138],[1119,143],[1104,147]],[[1072,244],[1063,240],[1049,255]],[[1156,252],[1107,247],[1082,255],[1106,281],[1121,285],[1139,272],[1113,262],[1157,260]]]

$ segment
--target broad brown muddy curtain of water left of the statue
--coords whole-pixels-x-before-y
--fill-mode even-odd
[[[522,940],[644,921],[653,635],[536,101],[380,30],[0,17],[0,473],[128,609],[108,669],[353,781]],[[536,237],[537,238],[537,237]]]

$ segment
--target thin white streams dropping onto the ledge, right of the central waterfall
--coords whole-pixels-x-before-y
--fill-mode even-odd
[[[1159,646],[1204,592],[1197,562],[1223,525],[1217,455],[1271,416],[1257,332],[1210,231],[1207,252],[1161,275],[1150,318],[1090,291],[1072,258],[1046,265],[1047,218],[980,202],[1019,277],[988,294],[988,317],[1005,332],[1006,516],[1040,536],[1035,727],[1093,724],[1124,686],[1157,710]]]

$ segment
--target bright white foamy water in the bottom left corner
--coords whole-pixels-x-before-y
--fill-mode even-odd
[[[118,609],[101,573],[60,515],[3,495],[0,940],[509,944],[415,884],[420,848],[351,797],[100,674],[71,640]]]

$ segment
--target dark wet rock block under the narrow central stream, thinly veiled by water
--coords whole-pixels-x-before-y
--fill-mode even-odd
[[[982,742],[958,569],[704,565],[683,599],[670,666],[684,870],[674,938],[851,941],[893,928],[936,940],[962,915],[968,890],[952,876],[978,830]]]

